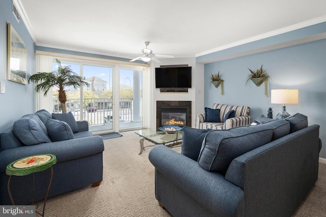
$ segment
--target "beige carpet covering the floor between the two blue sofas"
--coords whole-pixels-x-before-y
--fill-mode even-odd
[[[45,216],[170,216],[155,199],[154,167],[148,160],[151,147],[138,155],[140,137],[134,132],[121,134],[104,140],[100,186],[49,198]],[[172,149],[181,151],[180,147]],[[319,172],[315,187],[293,216],[326,216],[326,165],[320,164]],[[39,205],[37,210],[42,211],[42,203]]]

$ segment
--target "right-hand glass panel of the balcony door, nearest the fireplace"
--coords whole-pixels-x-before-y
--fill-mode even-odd
[[[126,130],[142,126],[143,71],[120,69],[119,129]]]

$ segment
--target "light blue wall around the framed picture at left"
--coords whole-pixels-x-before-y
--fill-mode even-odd
[[[23,21],[17,22],[12,13],[12,0],[0,1],[0,81],[6,84],[6,93],[0,94],[0,132],[8,129],[24,114],[35,111],[33,85],[22,85],[7,80],[7,23],[11,23],[28,51],[27,77],[35,73],[35,45]]]

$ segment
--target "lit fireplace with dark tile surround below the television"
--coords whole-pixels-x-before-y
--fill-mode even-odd
[[[156,128],[192,126],[191,101],[156,101]]]

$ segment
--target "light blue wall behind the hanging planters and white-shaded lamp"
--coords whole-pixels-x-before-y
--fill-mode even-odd
[[[273,107],[273,115],[281,111],[281,104],[271,104],[264,95],[264,85],[245,86],[248,68],[256,70],[263,65],[270,75],[270,89],[295,88],[299,103],[286,105],[290,114],[300,112],[308,116],[309,125],[320,125],[319,135],[324,143],[320,157],[326,159],[326,39],[287,48],[222,60],[205,64],[205,107],[213,103],[248,105],[253,118]],[[209,83],[209,76],[218,73],[224,79],[224,92]],[[204,108],[203,108],[204,109]]]

